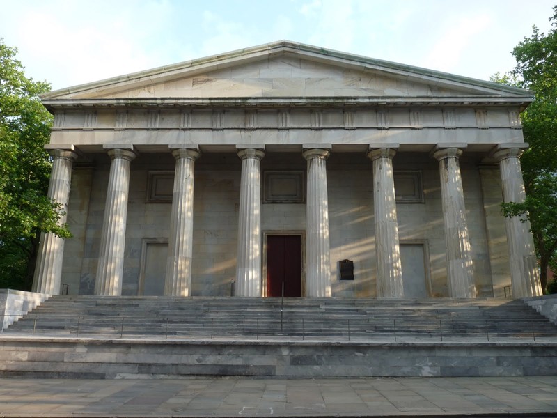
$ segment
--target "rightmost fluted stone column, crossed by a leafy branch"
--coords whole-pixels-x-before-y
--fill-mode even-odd
[[[494,153],[494,157],[499,161],[505,203],[522,203],[526,199],[519,160],[521,154],[522,150],[518,146],[507,148],[503,144]],[[512,296],[518,298],[542,295],[530,222],[525,215],[513,216],[505,217],[505,225],[510,256]]]

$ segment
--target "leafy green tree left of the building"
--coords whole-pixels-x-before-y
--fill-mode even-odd
[[[0,38],[0,288],[29,290],[40,232],[70,234],[47,197],[52,116],[39,95],[50,86],[25,77],[16,54]]]

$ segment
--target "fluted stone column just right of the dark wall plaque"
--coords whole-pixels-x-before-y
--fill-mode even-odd
[[[393,176],[396,148],[398,144],[392,144],[389,148],[370,148],[368,153],[373,162],[377,297],[404,297]]]

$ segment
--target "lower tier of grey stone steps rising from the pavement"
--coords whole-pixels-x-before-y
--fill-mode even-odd
[[[556,343],[0,341],[0,378],[557,375]]]

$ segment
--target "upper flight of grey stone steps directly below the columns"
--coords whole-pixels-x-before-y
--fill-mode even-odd
[[[143,339],[543,339],[520,300],[54,296],[6,334]]]

